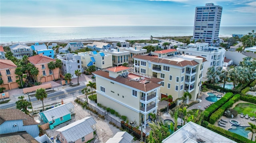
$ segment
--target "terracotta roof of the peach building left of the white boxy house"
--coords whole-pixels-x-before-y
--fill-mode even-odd
[[[30,63],[33,65],[38,65],[38,64],[44,64],[44,63],[50,63],[51,61],[55,62],[55,59],[52,59],[50,57],[44,56],[42,54],[40,55],[34,55],[32,57],[28,57],[28,60]]]

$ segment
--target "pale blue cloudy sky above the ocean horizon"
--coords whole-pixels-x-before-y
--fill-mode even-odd
[[[220,26],[256,26],[256,0],[1,0],[0,26],[193,26],[206,3],[222,6]]]

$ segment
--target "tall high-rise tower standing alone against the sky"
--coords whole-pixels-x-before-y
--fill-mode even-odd
[[[196,7],[193,39],[219,45],[219,31],[222,7],[213,3]]]

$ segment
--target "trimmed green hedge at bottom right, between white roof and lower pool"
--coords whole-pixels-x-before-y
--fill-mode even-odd
[[[238,135],[236,133],[227,131],[226,129],[223,129],[221,127],[216,127],[214,125],[208,124],[206,128],[210,129],[211,131],[214,131],[215,133],[218,133],[224,137],[227,137],[228,139],[236,141],[238,143],[255,143],[254,141],[251,141],[251,140],[249,140],[241,135]]]

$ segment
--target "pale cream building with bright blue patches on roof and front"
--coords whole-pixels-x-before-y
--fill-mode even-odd
[[[78,53],[81,56],[82,68],[87,69],[94,65],[96,69],[106,69],[112,67],[112,54],[97,51]]]

